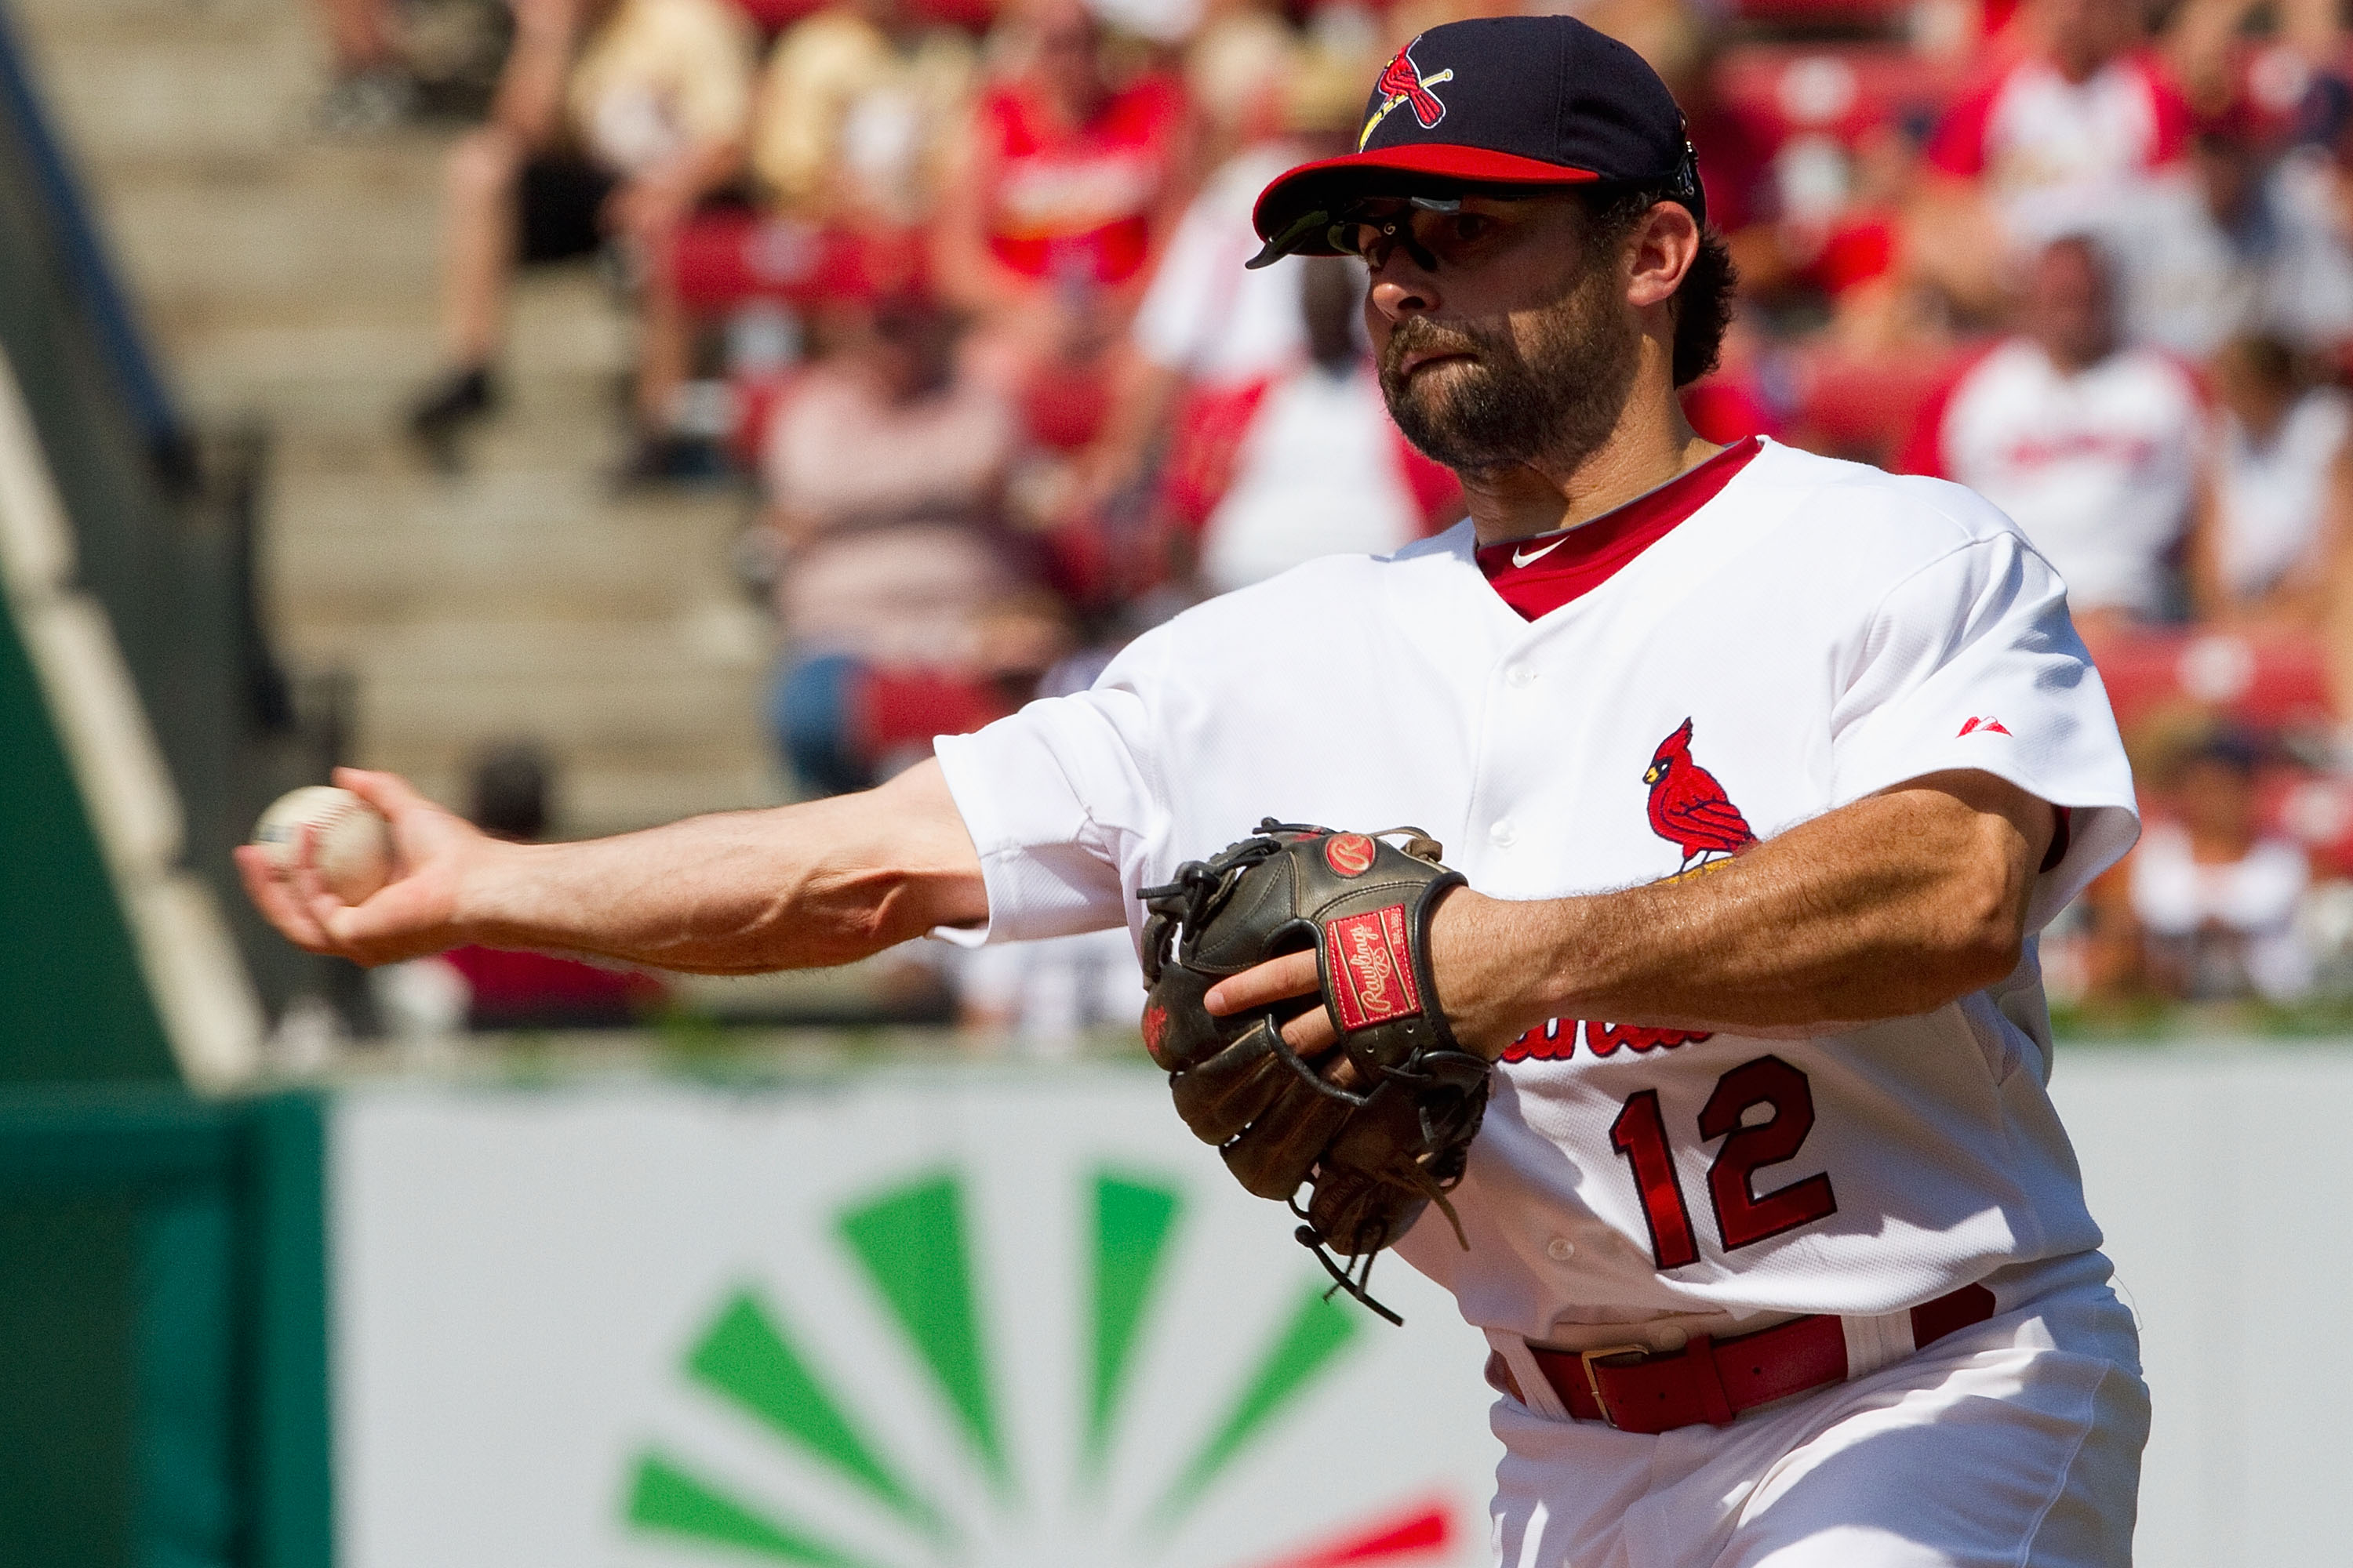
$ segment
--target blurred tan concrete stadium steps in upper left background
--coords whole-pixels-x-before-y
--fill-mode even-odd
[[[628,310],[525,275],[506,397],[428,473],[400,435],[442,369],[447,132],[325,141],[294,0],[12,0],[188,409],[273,433],[266,592],[289,661],[355,679],[360,762],[461,802],[489,741],[558,762],[558,827],[784,799],[772,632],[729,574],[744,494],[614,494]]]

